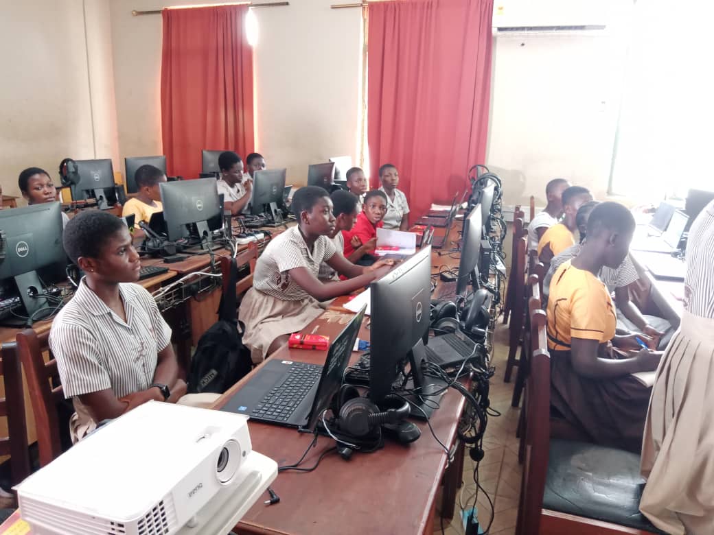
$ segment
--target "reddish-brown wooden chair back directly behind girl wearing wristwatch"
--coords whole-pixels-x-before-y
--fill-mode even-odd
[[[49,352],[49,331],[37,335],[34,330],[25,329],[17,333],[15,340],[35,414],[40,467],[44,467],[62,453],[57,407],[64,402],[64,394],[57,361],[51,352],[49,361],[44,360],[44,352]]]

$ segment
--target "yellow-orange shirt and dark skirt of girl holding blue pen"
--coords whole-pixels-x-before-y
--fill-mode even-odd
[[[550,404],[590,439],[639,451],[650,389],[630,374],[611,379],[582,377],[570,359],[572,338],[597,340],[601,357],[615,336],[615,307],[602,281],[563,263],[550,282],[548,350]]]

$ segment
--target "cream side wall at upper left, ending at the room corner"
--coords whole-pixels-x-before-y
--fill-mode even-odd
[[[59,183],[66,157],[114,158],[116,166],[109,0],[4,1],[0,9],[4,193],[19,195],[17,177],[31,166]]]

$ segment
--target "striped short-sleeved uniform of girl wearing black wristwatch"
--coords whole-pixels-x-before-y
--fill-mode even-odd
[[[49,347],[67,399],[76,411],[72,441],[96,428],[81,394],[112,389],[117,398],[146,390],[154,382],[158,353],[171,343],[171,327],[143,287],[119,284],[126,322],[89,287],[84,278],[74,297],[52,322]]]

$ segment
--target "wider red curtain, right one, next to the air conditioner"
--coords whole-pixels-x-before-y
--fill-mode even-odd
[[[485,163],[493,0],[398,0],[368,6],[370,175],[393,163],[411,219],[468,188]]]

